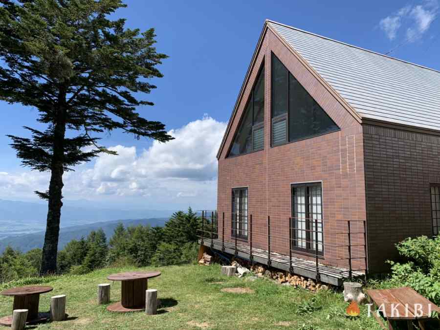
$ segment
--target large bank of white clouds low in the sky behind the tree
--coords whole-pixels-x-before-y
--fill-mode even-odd
[[[79,166],[63,177],[66,198],[114,198],[127,204],[188,203],[198,199],[212,204],[216,199],[217,159],[226,123],[207,115],[171,130],[167,143],[154,141],[148,149],[133,146],[110,147],[118,155],[101,154],[92,166]],[[26,171],[0,172],[0,196],[12,191],[16,197],[46,190],[49,175]],[[10,196],[10,194],[9,194]],[[170,206],[170,208],[172,208]]]

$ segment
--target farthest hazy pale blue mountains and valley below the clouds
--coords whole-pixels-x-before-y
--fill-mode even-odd
[[[61,227],[91,224],[121,219],[167,218],[174,211],[121,210],[115,207],[96,207],[87,200],[63,200]],[[0,239],[44,231],[47,204],[0,199]]]

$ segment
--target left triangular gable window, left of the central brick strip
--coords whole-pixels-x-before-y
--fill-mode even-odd
[[[252,88],[228,156],[264,149],[264,66]]]

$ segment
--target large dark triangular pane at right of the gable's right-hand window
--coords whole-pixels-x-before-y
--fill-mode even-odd
[[[289,141],[338,129],[329,115],[289,73]]]

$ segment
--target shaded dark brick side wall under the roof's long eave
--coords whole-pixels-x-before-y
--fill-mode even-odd
[[[370,267],[386,271],[395,243],[432,235],[430,183],[440,182],[440,137],[364,125]]]

